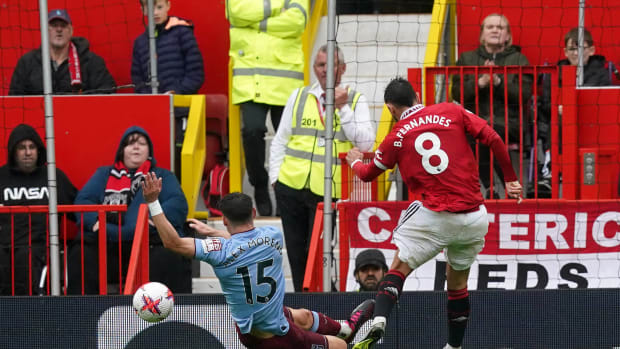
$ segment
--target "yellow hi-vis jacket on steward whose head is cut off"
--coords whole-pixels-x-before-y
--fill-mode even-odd
[[[285,105],[304,85],[308,0],[227,0],[232,103]]]

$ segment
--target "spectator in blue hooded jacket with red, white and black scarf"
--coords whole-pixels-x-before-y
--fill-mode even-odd
[[[187,216],[187,201],[181,186],[172,172],[156,166],[153,157],[153,143],[148,133],[138,126],[128,128],[123,134],[114,158],[114,165],[102,166],[88,180],[75,199],[76,205],[127,205],[127,212],[121,214],[121,254],[123,278],[131,253],[136,220],[140,204],[144,203],[141,183],[147,172],[154,172],[163,178],[165,189],[159,200],[166,208],[166,215],[183,236],[183,223]],[[118,213],[110,213],[106,217],[108,282],[118,283],[119,232]],[[97,233],[99,220],[96,212],[78,214],[78,227],[84,226],[84,283],[86,294],[99,293],[98,281],[98,244]],[[80,236],[78,232],[78,236]],[[82,293],[81,242],[76,239],[69,251],[69,293]],[[175,293],[191,293],[192,275],[191,260],[166,250],[155,227],[150,225],[150,279],[166,284]],[[124,281],[124,280],[123,280]],[[110,293],[116,290],[110,288]]]

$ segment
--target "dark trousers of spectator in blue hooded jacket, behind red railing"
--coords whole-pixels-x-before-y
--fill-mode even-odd
[[[153,239],[153,237],[151,237]],[[121,243],[121,280],[124,284],[133,241]],[[117,293],[119,284],[118,242],[107,243],[108,292]],[[69,248],[69,294],[82,294],[81,245],[76,240]],[[149,246],[149,279],[165,284],[174,293],[192,293],[192,261],[166,249],[161,243]],[[99,248],[92,238],[84,239],[84,293],[99,294]]]

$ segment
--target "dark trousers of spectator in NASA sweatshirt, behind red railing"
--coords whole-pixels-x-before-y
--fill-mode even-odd
[[[29,254],[32,271],[28,261]],[[32,243],[31,247],[15,246],[13,258],[14,268],[11,266],[11,246],[0,247],[0,295],[13,294],[12,276],[15,278],[15,295],[29,295],[30,290],[32,295],[38,295],[41,272],[46,262],[45,243]]]

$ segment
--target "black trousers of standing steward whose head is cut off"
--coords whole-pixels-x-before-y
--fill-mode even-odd
[[[262,103],[241,103],[243,127],[243,151],[245,152],[245,168],[248,171],[250,184],[255,188],[267,188],[269,175],[265,170],[265,134],[267,133],[267,112],[271,110],[271,124],[275,130],[280,125],[283,106]]]

